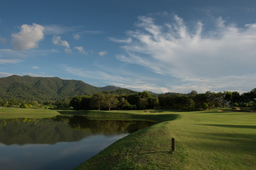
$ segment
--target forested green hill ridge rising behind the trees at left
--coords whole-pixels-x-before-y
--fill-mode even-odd
[[[9,76],[0,78],[0,98],[23,100],[59,100],[74,95],[121,90],[125,94],[135,91],[115,86],[95,87],[78,80],[63,80],[57,77]],[[120,93],[120,91],[117,91]]]

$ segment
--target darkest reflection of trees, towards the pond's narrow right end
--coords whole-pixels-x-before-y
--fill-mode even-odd
[[[88,120],[79,116],[72,117],[69,124],[73,129],[90,129],[92,133],[106,135],[123,131],[131,133],[154,125],[153,122],[141,120]]]

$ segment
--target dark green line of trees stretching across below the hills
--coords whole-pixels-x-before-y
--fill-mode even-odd
[[[113,94],[108,91],[90,95],[75,95],[70,99],[58,101],[0,101],[2,106],[29,108],[73,108],[75,110],[113,110],[113,109],[189,109],[205,110],[228,107],[255,107],[256,88],[240,94],[237,91],[198,93],[162,93],[152,96],[147,91],[131,94]]]

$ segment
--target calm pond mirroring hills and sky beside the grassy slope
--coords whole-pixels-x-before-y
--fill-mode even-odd
[[[0,119],[1,169],[72,169],[115,141],[155,124],[81,116]]]

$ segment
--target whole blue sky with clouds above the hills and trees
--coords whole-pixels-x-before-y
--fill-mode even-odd
[[[0,2],[0,77],[243,93],[255,63],[255,0]]]

